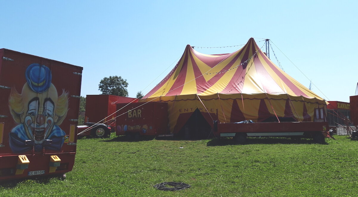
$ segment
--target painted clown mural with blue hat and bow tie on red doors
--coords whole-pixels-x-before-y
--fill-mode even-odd
[[[27,82],[21,93],[12,88],[9,98],[11,115],[19,124],[10,133],[11,150],[60,150],[65,132],[58,125],[67,115],[68,93],[63,90],[58,96],[51,83],[51,71],[44,65],[29,65],[25,76]]]

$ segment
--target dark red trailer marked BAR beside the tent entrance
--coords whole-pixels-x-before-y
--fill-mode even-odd
[[[139,138],[141,135],[168,134],[168,103],[137,102],[117,104],[116,135]]]

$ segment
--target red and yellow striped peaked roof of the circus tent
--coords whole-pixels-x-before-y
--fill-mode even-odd
[[[207,55],[187,45],[178,64],[144,98],[217,93],[288,94],[323,100],[272,63],[253,38],[229,54]]]

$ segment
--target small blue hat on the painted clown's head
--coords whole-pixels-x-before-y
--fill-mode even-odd
[[[44,92],[51,85],[51,71],[45,65],[30,64],[26,68],[25,76],[30,88],[35,92]]]

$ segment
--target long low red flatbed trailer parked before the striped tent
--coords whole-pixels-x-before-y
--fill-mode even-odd
[[[328,131],[328,128],[328,122],[214,122],[215,136],[233,137],[240,144],[246,141],[247,136],[306,137],[313,138],[317,143],[324,143],[324,133]]]

